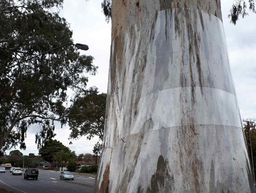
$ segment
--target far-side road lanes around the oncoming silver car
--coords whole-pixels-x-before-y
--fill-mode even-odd
[[[41,178],[54,178],[54,179],[60,179],[60,172],[53,172],[49,170],[43,170],[39,171],[39,175]],[[65,180],[65,182],[76,182],[81,184],[86,184],[89,186],[94,186],[95,178],[94,176],[88,176],[88,175],[81,175],[81,174],[74,174],[74,181],[71,180]],[[39,177],[38,177],[39,178]]]

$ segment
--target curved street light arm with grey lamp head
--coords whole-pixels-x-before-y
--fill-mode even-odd
[[[22,61],[22,62],[18,62],[17,64],[14,64],[14,65],[12,65],[12,66],[10,66],[10,67],[8,67],[8,68],[2,69],[2,70],[0,70],[0,72],[6,71],[6,70],[8,70],[8,69],[10,69],[10,68],[12,68],[12,67],[14,67],[14,66],[17,66],[17,65],[19,65],[19,64],[21,64],[21,63],[30,61],[30,60],[32,60],[32,59],[34,59],[34,58],[37,58],[38,56],[41,56],[41,55],[43,55],[43,54],[46,54],[46,53],[48,53],[48,52],[51,52],[51,51],[53,51],[53,50],[56,50],[56,49],[58,49],[58,48],[61,48],[61,47],[63,47],[63,46],[66,46],[66,45],[73,45],[73,46],[75,46],[76,48],[78,48],[78,49],[80,49],[80,50],[85,50],[85,51],[89,50],[89,46],[87,46],[86,44],[65,43],[65,44],[62,44],[62,45],[60,45],[60,46],[58,46],[58,47],[52,48],[51,50],[47,50],[47,51],[45,51],[45,52],[42,52],[41,54],[35,55],[35,56],[33,56],[33,57],[31,57],[31,58],[29,58],[29,59],[27,59],[27,60],[24,60],[24,61]],[[19,52],[19,53],[28,54],[27,52],[21,52],[21,51],[16,51],[16,50],[10,50],[10,49],[6,49],[6,48],[1,48],[1,49],[7,50],[7,51],[13,51],[13,52]]]

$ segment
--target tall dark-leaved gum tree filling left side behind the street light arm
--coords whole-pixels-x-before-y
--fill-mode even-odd
[[[67,89],[85,88],[97,67],[65,43],[72,31],[58,15],[63,0],[0,0],[0,151],[25,149],[27,128],[38,124],[38,146],[51,139],[54,121],[67,121]],[[57,11],[56,11],[57,10]]]

